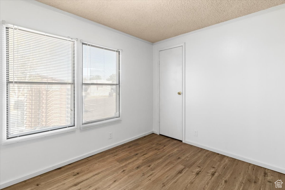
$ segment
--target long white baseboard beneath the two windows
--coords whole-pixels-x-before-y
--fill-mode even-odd
[[[93,151],[93,152],[89,152],[88,154],[84,154],[84,155],[82,155],[82,156],[73,158],[73,159],[71,159],[71,160],[67,160],[67,161],[62,162],[62,163],[60,163],[60,164],[56,164],[56,165],[54,165],[54,166],[50,166],[50,167],[47,167],[47,168],[44,168],[44,169],[35,171],[35,172],[33,172],[33,173],[30,173],[30,174],[27,174],[27,175],[23,175],[23,176],[21,176],[21,177],[18,177],[18,178],[16,178],[16,179],[11,180],[11,181],[7,181],[7,182],[5,182],[5,183],[0,184],[0,189],[3,189],[3,188],[8,187],[8,186],[10,186],[10,185],[14,185],[14,184],[19,183],[19,182],[21,182],[21,181],[25,181],[25,180],[30,179],[30,178],[32,178],[32,177],[36,177],[36,176],[38,176],[38,175],[40,175],[40,174],[46,173],[46,172],[48,172],[48,171],[52,171],[52,170],[54,170],[54,169],[56,169],[56,168],[59,168],[59,167],[62,167],[62,166],[66,166],[67,164],[71,164],[71,163],[76,162],[76,161],[78,161],[78,160],[82,160],[82,159],[87,158],[87,157],[89,157],[89,156],[92,156],[92,155],[94,155],[94,154],[98,154],[98,153],[103,152],[103,151],[105,151],[105,150],[108,150],[108,149],[110,149],[110,148],[114,148],[114,147],[119,146],[119,145],[121,145],[121,144],[125,144],[125,143],[127,143],[127,142],[130,142],[130,141],[132,141],[132,140],[135,140],[135,139],[137,139],[137,138],[141,138],[141,137],[143,137],[143,136],[146,136],[146,135],[152,134],[152,133],[153,133],[153,131],[150,131],[150,132],[147,132],[147,133],[144,133],[144,134],[135,136],[135,137],[133,137],[133,138],[129,138],[129,139],[127,139],[127,140],[123,140],[123,141],[121,141],[121,142],[112,144],[112,145],[110,145],[110,146],[106,146],[106,147],[101,148],[101,149],[99,149],[99,150],[95,150],[95,151]]]

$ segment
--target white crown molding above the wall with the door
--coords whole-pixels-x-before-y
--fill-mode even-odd
[[[192,32],[188,32],[188,33],[185,33],[185,34],[181,34],[181,35],[178,35],[178,36],[174,36],[174,37],[172,37],[172,38],[167,38],[167,39],[165,39],[165,40],[161,40],[161,41],[158,41],[158,42],[154,42],[153,45],[160,44],[160,43],[163,43],[163,42],[167,42],[167,41],[173,40],[173,39],[175,39],[175,38],[180,38],[180,37],[182,37],[182,36],[187,36],[187,35],[194,34],[194,33],[197,33],[197,32],[202,32],[202,31],[204,31],[204,30],[209,30],[209,29],[212,29],[212,28],[216,28],[216,27],[219,27],[219,26],[223,26],[223,25],[225,25],[225,24],[230,24],[230,23],[242,21],[242,20],[245,20],[245,19],[257,17],[257,16],[260,16],[260,15],[264,15],[264,14],[266,14],[266,13],[271,13],[271,12],[278,11],[278,10],[281,10],[281,9],[285,9],[285,4],[277,5],[277,6],[275,6],[275,7],[271,7],[271,8],[262,10],[262,11],[258,11],[258,12],[255,12],[255,13],[251,13],[251,14],[249,14],[249,15],[245,15],[245,16],[242,16],[242,17],[238,17],[238,18],[236,18],[236,19],[232,19],[232,20],[229,20],[229,21],[225,21],[225,22],[223,22],[223,23],[214,24],[214,25],[211,25],[211,26],[207,26],[207,27],[205,27],[205,28],[201,28],[201,29],[198,29],[198,30],[194,30],[194,31],[192,31]]]

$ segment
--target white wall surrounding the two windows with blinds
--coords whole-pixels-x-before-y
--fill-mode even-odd
[[[0,20],[123,50],[122,121],[1,145],[0,183],[2,185],[15,178],[152,132],[152,44],[35,4],[24,1],[1,0],[0,2]],[[108,133],[111,131],[113,138],[108,139]],[[37,174],[40,174],[40,171]]]

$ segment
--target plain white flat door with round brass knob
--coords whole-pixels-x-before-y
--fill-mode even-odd
[[[159,134],[182,140],[182,46],[159,52]]]

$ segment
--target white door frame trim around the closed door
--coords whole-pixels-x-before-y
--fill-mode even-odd
[[[159,52],[162,50],[167,50],[171,48],[177,48],[182,46],[182,142],[185,142],[185,42],[180,44],[175,44],[172,46],[166,46],[164,48],[157,49],[157,110],[158,110],[158,125],[157,125],[157,134],[159,135]]]

